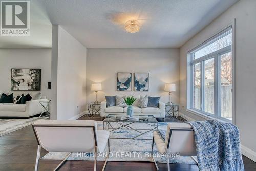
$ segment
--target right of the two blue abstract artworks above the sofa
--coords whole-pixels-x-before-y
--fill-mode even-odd
[[[148,91],[150,73],[134,73],[134,91]]]

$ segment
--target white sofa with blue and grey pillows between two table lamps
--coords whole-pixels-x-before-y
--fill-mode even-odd
[[[120,95],[121,96],[121,95]],[[165,118],[165,104],[163,102],[159,102],[159,108],[147,107],[140,108],[137,106],[138,100],[140,99],[140,95],[133,96],[136,98],[136,101],[133,103],[133,111],[134,115],[153,115],[155,118]],[[126,115],[127,107],[119,107],[112,106],[107,107],[106,101],[101,102],[100,104],[100,117],[106,117],[108,115]]]

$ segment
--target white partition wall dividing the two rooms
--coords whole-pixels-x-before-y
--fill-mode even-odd
[[[52,32],[51,119],[77,119],[86,105],[86,51],[59,25]]]

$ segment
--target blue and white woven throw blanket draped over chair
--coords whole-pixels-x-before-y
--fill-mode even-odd
[[[195,132],[197,159],[202,171],[244,171],[238,128],[215,120],[186,122]]]

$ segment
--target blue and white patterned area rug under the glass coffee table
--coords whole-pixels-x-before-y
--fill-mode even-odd
[[[118,127],[116,123],[112,123],[113,127]],[[166,130],[167,122],[159,122],[159,129]],[[97,126],[102,130],[103,124],[98,121]],[[133,123],[129,125],[133,128],[149,129],[152,126],[141,123]],[[152,161],[152,140],[133,140],[133,139],[112,139],[112,138],[131,138],[138,135],[134,130],[118,129],[110,132],[110,156],[109,161]],[[152,131],[138,138],[152,139]],[[154,145],[153,156],[156,162],[166,163],[166,156],[158,153]],[[42,160],[63,160],[69,153],[49,152]],[[99,153],[97,160],[105,160],[107,149],[104,153]],[[72,153],[67,160],[94,160],[93,153]],[[170,155],[170,163],[186,163],[196,164],[190,156],[179,156],[178,154]]]

